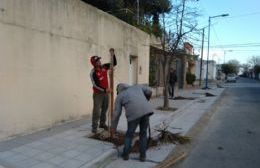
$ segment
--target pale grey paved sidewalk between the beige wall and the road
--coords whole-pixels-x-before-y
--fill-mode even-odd
[[[155,110],[150,121],[151,128],[158,127],[164,121],[170,127],[181,128],[181,132],[185,135],[210,109],[223,90],[221,88],[179,90],[177,96],[196,99],[169,100],[170,106],[177,110],[174,112]],[[205,92],[216,96],[206,97]],[[163,98],[155,98],[151,103],[154,108],[162,106]],[[118,129],[126,130],[126,127],[123,114]],[[88,118],[1,142],[0,168],[153,167],[164,160],[175,147],[169,144],[149,149],[146,162],[140,162],[138,154],[131,154],[129,161],[123,161],[118,157],[113,144],[88,138],[91,135],[90,130],[91,120]],[[152,134],[156,132],[153,131]],[[121,152],[122,147],[119,150]]]

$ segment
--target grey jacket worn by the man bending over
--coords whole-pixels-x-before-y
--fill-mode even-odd
[[[118,84],[117,92],[118,95],[115,101],[115,110],[111,124],[112,128],[117,128],[122,107],[125,108],[125,115],[128,122],[153,113],[153,108],[145,96],[151,95],[152,93],[149,87],[143,85],[129,86],[127,84]]]

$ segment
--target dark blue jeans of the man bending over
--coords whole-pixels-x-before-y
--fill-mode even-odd
[[[127,156],[130,153],[132,140],[137,126],[140,127],[139,133],[139,152],[141,157],[146,157],[147,149],[147,128],[149,125],[149,115],[145,115],[134,121],[127,123],[127,132],[125,134],[125,145],[123,150],[123,156]]]

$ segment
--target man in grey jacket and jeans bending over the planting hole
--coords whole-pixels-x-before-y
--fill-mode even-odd
[[[111,137],[114,138],[115,136],[118,121],[122,114],[122,107],[124,107],[127,118],[127,132],[125,134],[122,157],[124,160],[129,159],[133,136],[139,125],[140,161],[145,161],[148,145],[147,128],[149,126],[149,117],[153,114],[153,108],[148,102],[152,95],[152,90],[143,85],[129,86],[121,83],[117,85],[117,93],[110,129]]]

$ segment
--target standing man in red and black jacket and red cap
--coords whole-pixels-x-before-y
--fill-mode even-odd
[[[114,49],[109,50],[110,55],[113,56],[113,65],[117,64]],[[99,128],[108,130],[106,125],[106,113],[109,103],[109,93],[111,89],[108,84],[108,70],[110,63],[101,64],[101,57],[92,56],[90,62],[93,69],[90,72],[90,78],[93,84],[93,111],[92,111],[92,133],[97,133],[98,122]]]

